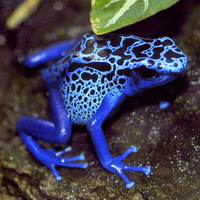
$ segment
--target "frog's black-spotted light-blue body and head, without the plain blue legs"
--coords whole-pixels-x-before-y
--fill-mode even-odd
[[[89,33],[69,55],[49,68],[44,79],[59,83],[71,120],[85,125],[108,92],[119,90],[132,96],[135,87],[160,85],[156,78],[162,74],[176,77],[186,63],[186,56],[168,37],[144,39]]]

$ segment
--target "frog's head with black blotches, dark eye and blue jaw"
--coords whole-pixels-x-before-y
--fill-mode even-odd
[[[140,43],[141,44],[141,43]],[[186,55],[168,37],[146,40],[132,48],[134,86],[146,90],[176,79],[187,66]]]

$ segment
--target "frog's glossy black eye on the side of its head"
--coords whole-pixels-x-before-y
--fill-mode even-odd
[[[139,68],[134,70],[137,75],[144,79],[152,79],[158,76],[158,72],[155,69],[148,69],[145,65],[141,65]]]

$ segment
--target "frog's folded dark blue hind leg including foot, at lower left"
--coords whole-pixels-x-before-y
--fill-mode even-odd
[[[49,88],[49,92],[52,112],[51,120],[35,117],[21,117],[17,123],[17,129],[23,142],[36,159],[50,168],[57,180],[61,180],[62,178],[58,174],[55,166],[86,168],[88,164],[72,162],[84,160],[83,154],[72,158],[60,157],[63,153],[70,151],[70,147],[64,151],[55,152],[53,149],[42,149],[35,140],[40,139],[46,142],[63,144],[71,135],[72,121],[64,109],[58,90]]]

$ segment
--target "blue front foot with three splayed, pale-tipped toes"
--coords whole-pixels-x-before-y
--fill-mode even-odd
[[[103,166],[108,169],[109,171],[118,174],[121,176],[121,178],[124,180],[126,183],[126,188],[132,188],[135,183],[130,181],[127,176],[124,174],[124,171],[140,171],[145,173],[146,175],[149,175],[151,173],[151,166],[140,166],[140,167],[135,167],[135,166],[129,166],[122,162],[130,153],[136,152],[137,148],[134,146],[131,146],[127,151],[125,151],[122,155],[117,156],[117,157],[112,157],[112,162],[111,163],[105,163]]]

